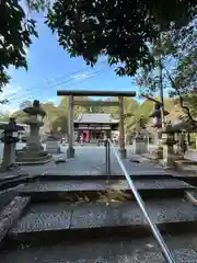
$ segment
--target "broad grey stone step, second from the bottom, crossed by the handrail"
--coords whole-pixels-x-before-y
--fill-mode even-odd
[[[197,209],[184,198],[147,201],[151,219],[162,232],[195,231]],[[150,236],[136,202],[78,202],[31,204],[9,232],[10,241],[45,243],[78,237]]]

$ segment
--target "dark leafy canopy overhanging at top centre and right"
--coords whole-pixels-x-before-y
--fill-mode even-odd
[[[120,65],[119,76],[134,76],[153,64],[149,43],[158,38],[157,26],[162,32],[172,23],[179,27],[195,8],[192,0],[57,0],[46,23],[71,57],[82,56],[93,66],[104,55],[109,65]]]

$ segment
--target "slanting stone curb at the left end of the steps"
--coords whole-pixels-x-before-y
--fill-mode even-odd
[[[19,219],[23,209],[28,205],[30,201],[31,197],[16,196],[5,206],[0,215],[0,243],[3,241],[14,221]]]

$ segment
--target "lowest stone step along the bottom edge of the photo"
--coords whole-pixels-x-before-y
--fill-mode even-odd
[[[176,263],[197,262],[197,237],[164,236],[166,244]],[[0,252],[3,263],[163,263],[160,248],[153,238],[134,239],[112,238],[92,239],[90,241],[54,243],[53,245],[30,247],[20,244],[11,250]]]

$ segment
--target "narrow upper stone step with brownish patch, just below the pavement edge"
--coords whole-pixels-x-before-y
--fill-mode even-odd
[[[185,190],[194,186],[176,179],[135,179],[136,187],[143,198],[183,197]],[[27,183],[19,190],[21,195],[31,195],[33,202],[72,201],[107,198],[134,199],[126,180],[84,180],[84,181],[37,181]],[[125,195],[126,194],[126,195]],[[117,199],[116,198],[116,199]]]

